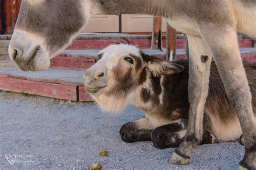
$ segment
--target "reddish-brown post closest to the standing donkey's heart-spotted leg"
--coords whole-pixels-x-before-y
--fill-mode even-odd
[[[165,59],[167,61],[176,59],[176,30],[169,24],[167,24]]]

